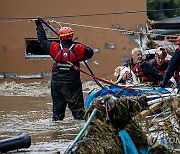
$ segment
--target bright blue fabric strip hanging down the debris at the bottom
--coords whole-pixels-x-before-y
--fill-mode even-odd
[[[121,139],[124,149],[124,154],[138,154],[138,151],[125,129],[118,132],[118,137]]]

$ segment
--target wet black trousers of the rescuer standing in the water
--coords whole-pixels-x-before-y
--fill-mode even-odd
[[[83,119],[85,109],[80,80],[74,82],[51,80],[51,96],[54,121],[63,120],[67,105],[74,119]]]

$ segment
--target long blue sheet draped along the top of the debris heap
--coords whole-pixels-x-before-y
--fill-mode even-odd
[[[159,92],[159,93],[169,93],[168,90],[161,87],[138,87],[135,90],[123,89],[117,86],[104,86],[102,89],[97,90],[95,92],[91,92],[85,98],[85,109],[89,108],[90,103],[93,101],[94,98],[99,96],[103,97],[107,94],[112,94],[114,96],[140,96],[145,92]]]

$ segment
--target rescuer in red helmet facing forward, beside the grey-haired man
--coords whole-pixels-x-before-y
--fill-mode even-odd
[[[155,51],[154,59],[151,59],[149,63],[158,69],[163,75],[166,73],[169,60],[165,59],[167,56],[167,50],[163,47],[159,47]]]

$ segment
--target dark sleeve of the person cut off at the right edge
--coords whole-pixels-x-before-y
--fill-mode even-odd
[[[179,74],[179,71],[180,71],[180,47],[176,49],[174,55],[172,56],[172,58],[169,62],[166,74],[165,74],[163,82],[161,84],[162,87],[165,87],[167,85],[168,81],[174,75],[175,71],[176,71],[176,73]],[[177,85],[179,86],[178,88],[180,89],[180,80],[178,77],[176,78],[176,82],[177,82]]]

